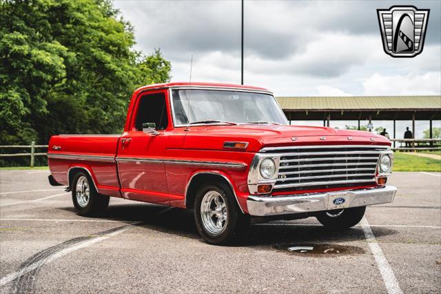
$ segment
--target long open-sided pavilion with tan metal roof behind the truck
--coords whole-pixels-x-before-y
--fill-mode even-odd
[[[322,120],[329,126],[331,120],[387,120],[393,121],[396,138],[396,121],[411,120],[415,134],[415,121],[429,121],[432,138],[432,121],[441,120],[440,96],[358,96],[358,97],[276,97],[278,104],[291,120]]]

